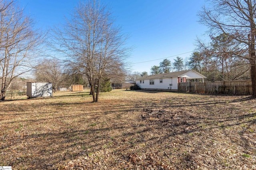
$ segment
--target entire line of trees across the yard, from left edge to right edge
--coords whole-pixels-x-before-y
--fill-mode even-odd
[[[195,51],[185,61],[164,59],[150,73],[194,69],[208,81],[250,78],[256,98],[256,2],[210,2],[198,13],[200,23],[209,28],[210,42],[197,39]],[[127,74],[128,37],[97,0],[78,2],[66,22],[53,27],[47,36],[34,28],[34,20],[17,1],[0,0],[0,17],[0,100],[5,100],[14,80],[31,71],[37,80],[52,82],[54,89],[83,80],[90,85],[93,102],[98,102],[102,82],[148,74]],[[45,44],[50,47],[50,58],[40,59]]]

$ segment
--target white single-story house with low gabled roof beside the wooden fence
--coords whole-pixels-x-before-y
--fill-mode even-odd
[[[195,70],[184,70],[143,76],[136,79],[136,84],[138,84],[142,90],[177,92],[179,82],[187,82],[189,79],[202,79],[202,82],[204,82],[204,78],[206,78],[206,76]]]

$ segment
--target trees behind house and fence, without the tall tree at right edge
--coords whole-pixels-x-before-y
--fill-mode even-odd
[[[176,57],[174,62],[164,59],[159,66],[150,68],[151,74],[161,74],[181,70],[196,70],[206,81],[250,79],[250,67],[246,60],[246,50],[239,49],[235,39],[226,34],[210,35],[210,42],[196,41],[196,50],[186,57]]]

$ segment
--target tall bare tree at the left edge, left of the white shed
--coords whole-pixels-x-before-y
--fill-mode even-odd
[[[33,20],[13,1],[0,1],[0,18],[0,100],[5,100],[12,81],[32,69],[41,37],[32,29]]]

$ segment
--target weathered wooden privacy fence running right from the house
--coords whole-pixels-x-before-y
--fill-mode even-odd
[[[251,80],[232,80],[216,82],[181,82],[178,92],[183,93],[205,93],[205,94],[229,94],[229,95],[251,95]]]

